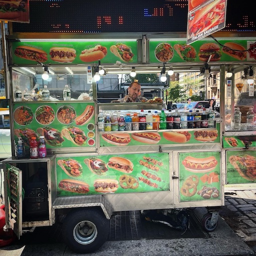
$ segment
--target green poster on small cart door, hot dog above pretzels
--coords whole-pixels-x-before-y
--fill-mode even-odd
[[[220,152],[178,153],[179,199],[220,200]]]

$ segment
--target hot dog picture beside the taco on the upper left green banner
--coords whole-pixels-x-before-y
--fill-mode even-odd
[[[84,49],[81,51],[80,60],[83,62],[96,61],[103,58],[107,53],[105,46],[96,45],[93,48]]]

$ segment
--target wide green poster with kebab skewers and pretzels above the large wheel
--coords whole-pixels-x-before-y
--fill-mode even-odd
[[[168,191],[169,153],[56,157],[57,194]]]

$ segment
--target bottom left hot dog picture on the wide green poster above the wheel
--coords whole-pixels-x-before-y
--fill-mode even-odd
[[[89,191],[89,185],[86,182],[74,179],[62,179],[59,181],[58,187],[73,193],[87,193]]]

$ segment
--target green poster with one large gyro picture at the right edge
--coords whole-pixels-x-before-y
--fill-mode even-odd
[[[256,152],[253,150],[226,151],[226,183],[256,182]]]

